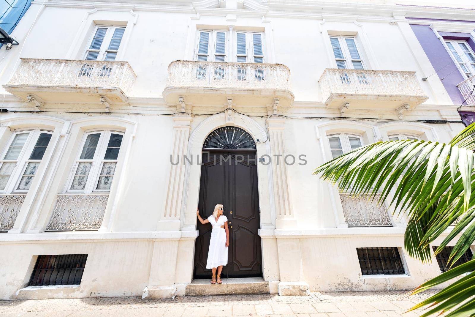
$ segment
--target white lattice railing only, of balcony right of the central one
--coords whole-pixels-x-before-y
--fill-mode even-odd
[[[319,80],[323,99],[332,94],[425,96],[415,72],[326,68]]]

